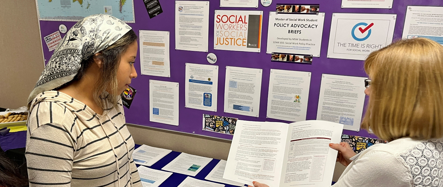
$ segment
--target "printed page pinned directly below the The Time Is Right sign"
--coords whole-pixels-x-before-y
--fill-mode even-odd
[[[322,75],[317,120],[344,124],[359,131],[365,103],[365,77]]]

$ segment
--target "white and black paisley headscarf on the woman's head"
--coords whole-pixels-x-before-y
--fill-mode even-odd
[[[110,15],[96,14],[77,22],[63,37],[28,97],[28,102],[44,91],[53,90],[74,79],[87,60],[120,39],[132,28]]]

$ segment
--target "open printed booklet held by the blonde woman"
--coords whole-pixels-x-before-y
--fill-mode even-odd
[[[343,125],[237,121],[224,179],[270,187],[326,187],[332,182]]]

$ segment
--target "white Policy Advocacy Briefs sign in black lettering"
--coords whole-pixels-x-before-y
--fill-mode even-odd
[[[266,53],[320,56],[325,13],[318,15],[269,12]]]

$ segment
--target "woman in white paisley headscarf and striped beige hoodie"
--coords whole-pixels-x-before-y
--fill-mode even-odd
[[[77,22],[29,99],[31,187],[141,187],[120,94],[137,77],[137,36],[109,15]]]

